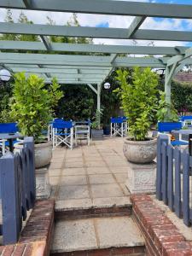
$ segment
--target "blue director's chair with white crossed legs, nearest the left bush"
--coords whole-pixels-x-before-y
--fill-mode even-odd
[[[73,121],[53,122],[53,148],[61,144],[73,149]]]

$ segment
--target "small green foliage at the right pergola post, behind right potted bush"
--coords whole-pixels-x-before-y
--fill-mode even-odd
[[[160,122],[177,122],[178,120],[177,110],[174,108],[173,104],[170,105],[166,102],[166,94],[164,91],[160,91],[157,119]]]

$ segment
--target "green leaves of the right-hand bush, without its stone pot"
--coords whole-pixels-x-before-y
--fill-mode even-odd
[[[149,67],[135,67],[131,82],[129,72],[119,69],[116,79],[120,88],[115,90],[121,99],[121,107],[129,118],[131,136],[134,140],[143,141],[157,110],[158,76]]]

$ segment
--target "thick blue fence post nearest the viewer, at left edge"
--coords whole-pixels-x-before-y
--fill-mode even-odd
[[[20,235],[20,201],[18,198],[18,169],[14,154],[0,158],[2,190],[3,244],[18,241]]]

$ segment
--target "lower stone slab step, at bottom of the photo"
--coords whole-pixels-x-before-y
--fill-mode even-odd
[[[143,236],[131,217],[57,220],[51,255],[145,255]]]

